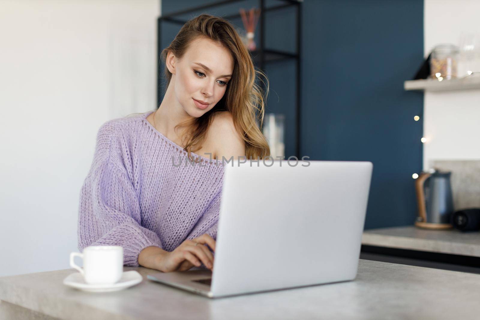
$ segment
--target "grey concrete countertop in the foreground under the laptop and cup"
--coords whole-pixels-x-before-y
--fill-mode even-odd
[[[150,281],[110,293],[62,284],[74,269],[0,278],[0,299],[60,319],[478,319],[480,275],[360,260],[354,281],[209,299]],[[10,303],[1,302],[10,305]],[[47,319],[36,315],[35,319]]]

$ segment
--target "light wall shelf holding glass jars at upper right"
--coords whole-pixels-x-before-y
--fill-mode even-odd
[[[438,81],[434,79],[408,80],[403,84],[405,90],[454,91],[480,89],[480,77],[472,75],[463,79]]]

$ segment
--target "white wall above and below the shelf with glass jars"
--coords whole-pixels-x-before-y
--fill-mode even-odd
[[[439,43],[459,45],[464,32],[480,36],[479,12],[478,0],[424,0],[425,57]],[[480,159],[479,123],[480,90],[426,92],[423,169],[431,160]]]

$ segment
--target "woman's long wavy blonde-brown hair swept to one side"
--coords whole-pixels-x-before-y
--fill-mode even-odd
[[[180,28],[171,44],[162,50],[163,62],[165,63],[168,52],[181,59],[190,43],[199,36],[207,37],[228,49],[234,60],[234,69],[225,95],[215,107],[199,118],[189,119],[175,126],[177,128],[186,124],[189,128],[185,134],[183,150],[188,152],[189,159],[193,161],[190,153],[201,148],[214,114],[227,110],[232,115],[235,129],[243,138],[246,157],[264,159],[270,155],[270,147],[261,131],[265,102],[262,89],[255,83],[256,74],[265,78],[265,98],[268,95],[269,83],[264,72],[255,69],[250,52],[230,22],[206,13],[189,20]],[[164,76],[168,86],[172,77],[168,68],[165,68]],[[260,124],[257,124],[257,120]],[[195,145],[200,146],[192,150]]]

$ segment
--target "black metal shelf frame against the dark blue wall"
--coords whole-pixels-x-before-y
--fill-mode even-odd
[[[240,1],[245,1],[245,0],[222,0],[222,1],[216,1],[212,2],[209,4],[205,4],[202,6],[197,6],[193,7],[190,9],[186,10],[181,10],[173,13],[169,13],[163,16],[160,16],[157,21],[157,57],[160,58],[160,53],[162,51],[161,48],[161,27],[162,27],[162,22],[170,22],[174,24],[180,24],[183,25],[187,21],[184,21],[182,19],[176,18],[179,15],[182,14],[187,14],[187,13],[192,13],[192,12],[197,12],[209,8],[213,8],[216,6],[220,5],[225,5],[225,4],[231,4],[234,2],[240,2]],[[258,0],[259,1],[259,7],[261,9],[260,12],[260,18],[259,18],[259,32],[260,32],[260,44],[257,50],[250,51],[252,55],[253,62],[262,70],[264,71],[265,63],[266,62],[272,62],[272,61],[279,61],[279,60],[284,60],[284,59],[295,59],[296,60],[296,84],[297,84],[297,90],[296,90],[296,106],[295,106],[295,155],[297,156],[298,159],[300,159],[300,88],[301,88],[301,75],[300,75],[300,49],[301,49],[301,22],[300,22],[300,17],[301,17],[301,4],[302,0],[279,0],[283,2],[287,2],[285,4],[277,5],[277,6],[272,6],[272,7],[266,7],[265,6],[265,0]],[[297,39],[296,39],[296,53],[289,53],[285,51],[279,51],[279,50],[273,50],[273,49],[266,49],[265,48],[265,12],[272,12],[280,9],[284,9],[290,6],[295,6],[296,7],[296,23],[297,23]],[[239,18],[240,13],[237,14],[231,14],[231,15],[225,15],[222,16],[224,19],[230,20],[233,18]],[[160,87],[160,80],[161,80],[161,70],[160,70],[160,60],[158,60],[158,67],[157,67],[157,102],[160,102],[161,99],[161,87]],[[261,85],[263,86],[263,82],[261,82]],[[264,88],[265,89],[265,88]],[[158,107],[158,104],[157,106]]]

